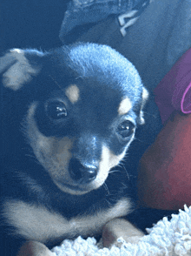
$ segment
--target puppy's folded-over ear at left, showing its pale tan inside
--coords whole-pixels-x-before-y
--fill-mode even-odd
[[[31,56],[33,59],[34,57],[42,57],[43,52],[12,49],[0,57],[0,74],[3,77],[4,87],[17,91],[40,72],[41,66],[34,61],[31,62]]]

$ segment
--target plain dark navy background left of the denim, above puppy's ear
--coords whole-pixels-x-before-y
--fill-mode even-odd
[[[58,35],[69,0],[0,1],[0,52],[10,48],[49,50],[62,45]]]

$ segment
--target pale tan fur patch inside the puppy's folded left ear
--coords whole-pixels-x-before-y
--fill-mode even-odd
[[[3,85],[13,91],[17,91],[23,84],[30,82],[32,76],[35,76],[40,71],[40,68],[32,67],[27,58],[24,57],[24,51],[20,49],[11,50],[3,57],[4,61],[6,62],[6,59],[10,57],[14,57],[16,63],[3,73]]]

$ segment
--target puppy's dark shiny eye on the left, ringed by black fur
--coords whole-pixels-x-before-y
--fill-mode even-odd
[[[61,101],[52,101],[47,104],[46,112],[49,118],[61,119],[67,116],[65,104]]]

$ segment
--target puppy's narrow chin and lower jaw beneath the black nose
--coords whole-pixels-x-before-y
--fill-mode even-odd
[[[104,182],[102,182],[102,184],[98,184],[97,182],[92,181],[91,183],[89,183],[89,185],[69,185],[69,184],[63,184],[59,181],[54,180],[54,183],[62,192],[79,196],[79,195],[89,193],[92,190],[98,189],[99,187],[102,186]]]

